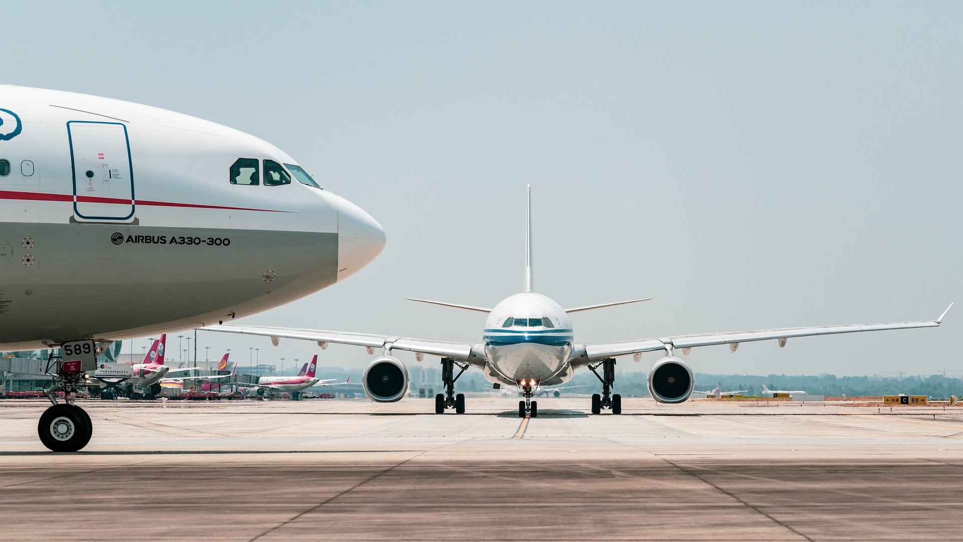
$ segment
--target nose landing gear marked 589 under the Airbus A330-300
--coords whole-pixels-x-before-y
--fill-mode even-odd
[[[91,442],[93,423],[84,409],[73,404],[80,389],[81,375],[65,373],[61,368],[60,386],[47,394],[53,406],[43,411],[37,424],[37,433],[43,446],[53,451],[77,451]],[[64,402],[57,402],[57,392],[64,392]]]

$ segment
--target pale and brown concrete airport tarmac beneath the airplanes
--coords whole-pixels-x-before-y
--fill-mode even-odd
[[[963,407],[587,397],[0,401],[0,539],[930,540],[963,517]]]

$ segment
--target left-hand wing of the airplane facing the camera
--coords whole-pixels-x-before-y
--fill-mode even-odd
[[[411,339],[405,337],[391,337],[387,335],[369,335],[364,333],[351,333],[343,331],[325,331],[291,328],[271,328],[263,326],[239,326],[222,324],[217,326],[207,326],[200,328],[201,331],[218,331],[222,333],[240,333],[243,335],[259,335],[276,339],[300,339],[314,340],[319,343],[330,342],[333,344],[353,344],[355,346],[366,346],[368,348],[391,348],[393,350],[405,350],[407,352],[417,352],[429,354],[430,356],[440,356],[444,358],[454,358],[462,362],[468,362],[473,366],[484,366],[483,356],[472,352],[473,344],[468,342],[449,342],[434,339]],[[479,350],[481,347],[479,347]]]

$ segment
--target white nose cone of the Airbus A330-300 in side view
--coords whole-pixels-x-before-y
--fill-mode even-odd
[[[384,229],[354,203],[338,198],[338,282],[368,265],[384,249]]]

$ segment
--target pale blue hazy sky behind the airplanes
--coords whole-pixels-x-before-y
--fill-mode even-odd
[[[573,316],[577,340],[929,319],[963,301],[961,12],[11,2],[2,80],[245,130],[385,227],[367,269],[250,323],[480,339],[481,313],[403,297],[493,306],[520,290],[528,183],[537,291],[563,306],[655,297]],[[963,371],[961,318],[688,361],[706,373]],[[317,350],[200,343],[260,347],[262,362]],[[320,363],[368,359],[332,347]]]

